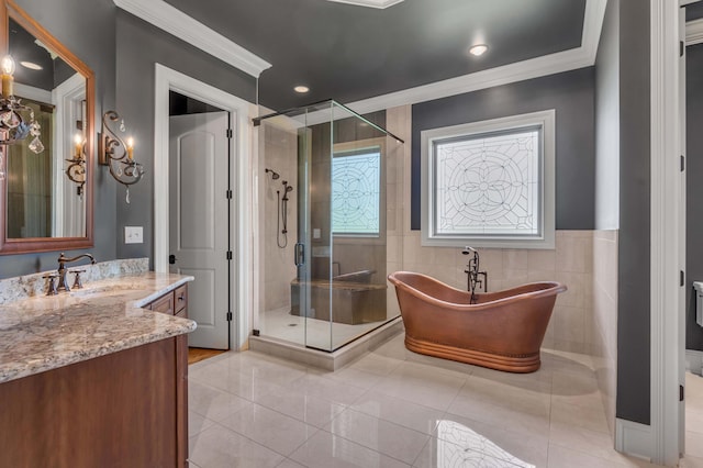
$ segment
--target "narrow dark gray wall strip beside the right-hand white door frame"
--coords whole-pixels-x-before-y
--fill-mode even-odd
[[[640,0],[620,4],[616,405],[617,417],[649,424],[649,9]]]

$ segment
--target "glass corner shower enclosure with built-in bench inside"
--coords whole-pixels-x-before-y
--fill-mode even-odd
[[[297,227],[289,223],[288,235],[297,238],[286,254],[267,243],[261,248],[263,336],[332,352],[398,316],[397,308],[387,307],[395,301],[386,280],[387,158],[388,148],[402,142],[383,130],[384,120],[384,112],[367,119],[335,101],[255,119],[265,135],[259,138],[261,172],[286,164],[282,141],[289,142],[289,163],[297,160],[293,180],[293,174],[280,176],[294,187],[289,197]],[[280,197],[279,181],[265,180],[259,198],[272,200],[274,188]],[[280,216],[280,205],[277,211]],[[263,215],[265,237],[272,236],[267,227],[274,225],[272,214]],[[274,267],[271,258],[294,260],[294,277],[277,280],[287,267]],[[276,304],[266,304],[277,297]]]

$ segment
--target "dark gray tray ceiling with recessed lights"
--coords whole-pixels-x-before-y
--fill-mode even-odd
[[[270,63],[259,102],[274,110],[349,103],[578,48],[585,14],[585,0],[166,2]],[[477,43],[489,46],[481,57],[467,52]]]

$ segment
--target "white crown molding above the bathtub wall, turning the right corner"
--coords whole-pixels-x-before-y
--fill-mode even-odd
[[[346,104],[360,114],[559,74],[595,64],[606,0],[587,0],[581,46]]]

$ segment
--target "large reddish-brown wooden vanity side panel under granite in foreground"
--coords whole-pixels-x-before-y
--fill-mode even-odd
[[[187,467],[186,335],[0,385],[2,467]]]

